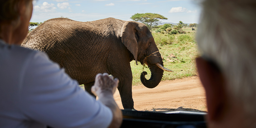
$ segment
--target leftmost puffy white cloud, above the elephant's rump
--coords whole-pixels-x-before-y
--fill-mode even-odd
[[[54,12],[56,11],[56,7],[54,7],[54,4],[48,4],[47,2],[44,2],[43,4],[39,4],[37,6],[34,6],[34,9],[39,12]]]

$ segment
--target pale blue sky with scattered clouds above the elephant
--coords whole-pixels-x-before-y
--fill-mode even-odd
[[[94,21],[113,17],[131,21],[136,13],[157,13],[168,18],[162,22],[199,23],[200,6],[195,0],[37,0],[31,22],[68,17]]]

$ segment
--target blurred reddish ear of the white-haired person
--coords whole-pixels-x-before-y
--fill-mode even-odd
[[[223,75],[215,65],[202,57],[198,57],[196,63],[200,80],[206,92],[208,120],[217,121],[222,117],[227,99]]]

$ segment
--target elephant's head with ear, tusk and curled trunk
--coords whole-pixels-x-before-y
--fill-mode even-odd
[[[147,64],[151,77],[145,78],[147,72],[142,72],[140,80],[147,88],[156,87],[162,79],[163,72],[173,72],[163,67],[161,54],[155,44],[154,38],[145,24],[126,21],[121,29],[122,43],[133,54],[134,59],[141,64]],[[138,65],[138,64],[137,64]]]

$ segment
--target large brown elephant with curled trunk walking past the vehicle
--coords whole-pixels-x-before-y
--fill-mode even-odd
[[[164,70],[172,72],[163,67],[161,54],[147,26],[135,21],[49,19],[31,31],[21,46],[48,54],[72,79],[84,84],[90,94],[98,73],[107,72],[118,78],[117,89],[124,109],[134,109],[130,61],[148,65],[151,78],[145,78],[147,72],[140,76],[148,88],[159,84]]]

